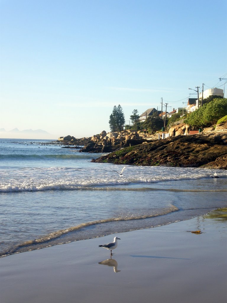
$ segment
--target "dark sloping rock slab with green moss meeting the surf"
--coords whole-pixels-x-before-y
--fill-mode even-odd
[[[92,162],[227,169],[227,132],[179,135],[120,148]]]

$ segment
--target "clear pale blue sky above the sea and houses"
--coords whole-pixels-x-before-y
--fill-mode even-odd
[[[203,83],[226,96],[226,12],[226,0],[0,0],[0,138],[108,132],[114,105],[129,124]]]

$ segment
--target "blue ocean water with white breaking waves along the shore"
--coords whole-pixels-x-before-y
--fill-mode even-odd
[[[124,165],[91,163],[101,155],[0,139],[1,257],[227,207],[225,170],[126,165],[119,176]]]

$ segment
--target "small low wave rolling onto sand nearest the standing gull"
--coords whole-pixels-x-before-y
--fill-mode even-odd
[[[101,219],[101,220],[81,223],[76,226],[72,226],[72,227],[69,227],[66,229],[51,232],[50,234],[44,235],[38,239],[21,242],[17,245],[14,245],[11,248],[9,248],[7,251],[3,251],[2,253],[0,253],[0,257],[12,255],[12,254],[22,252],[22,251],[24,252],[24,251],[28,251],[28,250],[35,250],[35,249],[40,249],[40,248],[44,248],[44,247],[48,247],[48,246],[64,244],[64,243],[75,241],[75,240],[71,240],[71,241],[67,241],[67,242],[58,241],[58,243],[51,244],[52,240],[61,238],[61,236],[63,236],[63,235],[67,235],[72,232],[80,231],[81,229],[86,229],[86,228],[90,228],[90,227],[92,228],[95,225],[101,225],[101,224],[109,223],[109,222],[131,221],[131,220],[141,220],[141,219],[153,218],[153,217],[158,217],[158,216],[162,216],[162,215],[167,215],[174,211],[179,211],[179,209],[176,206],[171,205],[170,207],[160,209],[159,212],[156,214],[152,213],[152,214],[146,214],[146,215],[132,215],[132,216],[107,218],[107,219]],[[82,238],[81,239],[79,238],[78,240],[82,240]]]

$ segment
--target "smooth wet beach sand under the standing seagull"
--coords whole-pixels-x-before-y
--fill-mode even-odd
[[[0,301],[224,303],[227,221],[217,215],[1,258]],[[114,236],[110,259],[98,245]]]

